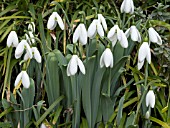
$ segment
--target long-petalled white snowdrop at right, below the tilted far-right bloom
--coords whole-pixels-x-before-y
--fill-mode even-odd
[[[140,70],[144,64],[144,61],[148,61],[148,63],[151,63],[151,52],[150,52],[150,47],[147,42],[143,42],[143,44],[139,48],[139,53],[138,53],[138,70]]]

